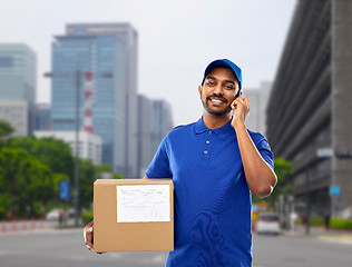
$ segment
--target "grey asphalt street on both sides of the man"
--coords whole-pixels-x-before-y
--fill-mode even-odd
[[[345,267],[352,265],[351,244],[317,236],[253,235],[254,267]],[[0,234],[0,267],[158,267],[167,253],[95,255],[82,241],[81,229],[45,229]]]

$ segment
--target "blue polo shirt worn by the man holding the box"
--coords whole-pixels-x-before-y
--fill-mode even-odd
[[[266,139],[248,132],[273,167]],[[146,175],[174,181],[175,250],[166,266],[252,266],[251,192],[231,122],[208,129],[201,118],[174,128]]]

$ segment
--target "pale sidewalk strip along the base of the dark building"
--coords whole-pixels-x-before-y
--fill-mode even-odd
[[[283,230],[283,235],[291,237],[306,237],[317,238],[324,241],[332,241],[339,244],[346,244],[352,246],[352,231],[351,230],[339,230],[329,229],[327,231],[322,227],[310,227],[310,235],[306,235],[305,226],[296,226],[295,231]]]

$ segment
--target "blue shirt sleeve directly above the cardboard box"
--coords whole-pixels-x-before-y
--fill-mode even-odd
[[[168,136],[166,136],[159,145],[147,171],[146,176],[148,178],[173,178],[173,172],[169,168],[169,157],[168,157]]]

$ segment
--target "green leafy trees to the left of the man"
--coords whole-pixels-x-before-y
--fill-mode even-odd
[[[66,204],[71,205],[75,197],[75,158],[70,146],[52,137],[4,138],[11,132],[10,126],[0,121],[0,218],[8,214],[40,217],[45,210],[60,206],[61,180],[71,182],[72,199]],[[102,172],[111,172],[115,179],[124,178],[109,165],[95,167],[90,160],[79,160],[81,207],[90,206],[92,184]]]

